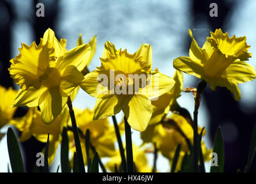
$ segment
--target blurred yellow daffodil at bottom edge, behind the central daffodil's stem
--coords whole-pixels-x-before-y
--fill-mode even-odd
[[[146,156],[146,147],[138,147],[136,144],[132,144],[133,162],[135,163],[135,170],[138,173],[151,173],[152,167],[149,166]],[[114,172],[115,164],[117,169],[121,165],[120,152],[116,151],[116,155],[110,158],[109,162],[106,163],[106,168]]]

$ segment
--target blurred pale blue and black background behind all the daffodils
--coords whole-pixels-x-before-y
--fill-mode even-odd
[[[44,4],[44,17],[36,17],[36,4]],[[210,17],[210,3],[217,3],[218,17]],[[66,48],[76,46],[79,33],[83,34],[84,43],[97,34],[97,52],[88,67],[90,71],[100,66],[105,41],[111,41],[116,48],[135,52],[141,44],[151,44],[153,49],[153,68],[173,76],[173,59],[188,56],[191,38],[188,28],[192,29],[200,47],[210,36],[210,31],[221,28],[231,37],[246,36],[249,52],[253,57],[250,64],[256,67],[256,2],[231,0],[166,0],[166,1],[84,1],[84,0],[1,0],[0,1],[0,85],[14,85],[7,68],[9,60],[18,55],[21,43],[39,44],[47,28],[55,32],[57,39],[67,40]],[[196,87],[198,79],[184,74],[184,87]],[[243,170],[248,155],[251,132],[256,120],[256,81],[239,85],[242,99],[236,102],[225,88],[212,91],[207,86],[203,92],[199,109],[199,126],[206,127],[203,140],[208,148],[213,145],[217,127],[220,125],[225,141],[225,172]],[[192,94],[183,93],[178,99],[180,106],[194,111]],[[94,108],[95,99],[79,91],[74,106]],[[15,116],[23,116],[26,108],[18,108]],[[121,114],[118,114],[121,120]],[[111,120],[110,120],[111,121]],[[0,131],[6,132],[4,127]],[[133,131],[132,138],[137,144],[142,143],[139,132]],[[138,139],[137,139],[138,138]],[[32,170],[36,162],[36,153],[44,147],[43,143],[31,138],[21,144],[27,171]],[[153,163],[149,155],[149,162]],[[169,170],[168,162],[159,158],[159,171]],[[0,141],[0,171],[7,171],[9,162],[6,138]],[[55,166],[53,166],[55,167]],[[57,166],[56,166],[57,167]],[[54,169],[55,170],[55,169]],[[209,169],[208,169],[209,170]],[[256,159],[251,166],[256,171]]]

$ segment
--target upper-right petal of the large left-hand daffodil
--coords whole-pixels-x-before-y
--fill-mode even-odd
[[[83,70],[88,63],[88,59],[91,54],[91,47],[89,44],[83,44],[79,47],[75,47],[64,53],[64,56],[58,59],[57,68],[60,73],[63,74],[66,67],[73,65],[77,67],[79,71]]]

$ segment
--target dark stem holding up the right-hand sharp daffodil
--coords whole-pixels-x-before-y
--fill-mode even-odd
[[[205,81],[200,81],[197,86],[196,95],[195,95],[195,110],[194,110],[194,172],[198,173],[198,158],[199,158],[199,144],[198,144],[198,109],[201,101],[201,93],[205,89],[207,83]]]

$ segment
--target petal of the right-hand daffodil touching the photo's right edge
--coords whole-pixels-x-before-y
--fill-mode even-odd
[[[253,81],[256,77],[255,68],[246,62],[236,60],[226,69],[222,77],[226,77],[233,82],[240,84]]]

